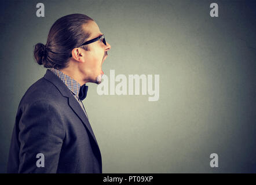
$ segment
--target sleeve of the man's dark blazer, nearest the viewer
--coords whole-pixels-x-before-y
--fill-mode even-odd
[[[58,107],[46,101],[25,106],[19,130],[18,173],[56,173],[65,136]]]

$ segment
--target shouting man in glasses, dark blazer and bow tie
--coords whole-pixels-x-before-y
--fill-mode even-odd
[[[100,83],[111,46],[92,18],[70,14],[51,27],[34,56],[47,69],[17,110],[9,173],[101,173],[100,149],[82,100]]]

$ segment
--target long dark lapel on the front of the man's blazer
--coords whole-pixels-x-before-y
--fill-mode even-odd
[[[65,85],[65,83],[54,73],[52,73],[49,69],[47,69],[45,76],[43,76],[46,80],[49,80],[51,83],[54,84],[60,91],[60,93],[68,98],[68,104],[72,108],[72,110],[76,113],[76,115],[81,119],[82,123],[85,125],[85,127],[88,129],[90,134],[92,135],[93,139],[96,142],[96,145],[98,147],[97,140],[93,134],[93,129],[89,123],[89,120],[87,119],[85,112],[83,112],[81,106],[79,103],[76,101],[75,97],[71,94],[70,90],[68,87]]]

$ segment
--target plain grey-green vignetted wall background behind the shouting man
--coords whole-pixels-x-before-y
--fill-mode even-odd
[[[38,2],[45,17],[36,17]],[[20,99],[46,71],[33,46],[71,13],[92,17],[111,44],[108,76],[160,75],[156,102],[100,96],[88,84],[83,103],[104,173],[256,172],[255,9],[255,1],[1,1],[0,172]]]

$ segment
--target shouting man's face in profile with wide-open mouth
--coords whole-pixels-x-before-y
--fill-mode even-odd
[[[94,21],[89,21],[89,23],[83,25],[83,29],[90,33],[90,37],[86,40],[103,35]],[[101,82],[97,79],[101,79],[101,76],[104,74],[102,64],[107,58],[107,51],[111,49],[111,46],[108,43],[106,46],[102,40],[97,40],[87,45],[87,48],[88,50],[84,54],[85,62],[81,64],[80,70],[85,74],[86,81],[99,84]]]

